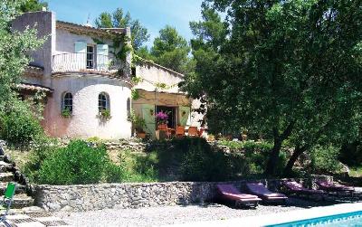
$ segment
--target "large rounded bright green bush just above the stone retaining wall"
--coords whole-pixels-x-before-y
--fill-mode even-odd
[[[102,179],[110,160],[106,148],[89,147],[73,140],[46,157],[39,171],[42,184],[95,184]]]

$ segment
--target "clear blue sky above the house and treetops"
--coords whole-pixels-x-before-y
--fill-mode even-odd
[[[203,0],[48,0],[50,10],[57,19],[76,24],[85,24],[88,14],[94,24],[95,18],[104,11],[113,12],[117,7],[129,11],[148,28],[151,45],[158,31],[170,24],[187,40],[192,37],[188,23],[201,19]]]

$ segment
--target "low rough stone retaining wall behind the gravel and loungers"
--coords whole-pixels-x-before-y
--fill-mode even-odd
[[[320,176],[319,176],[320,177]],[[330,180],[330,179],[329,179]],[[271,190],[280,180],[262,180]],[[302,181],[311,184],[313,180]],[[246,181],[227,182],[242,188]],[[216,182],[167,182],[148,184],[37,185],[35,203],[47,211],[91,211],[105,208],[139,208],[214,200]]]

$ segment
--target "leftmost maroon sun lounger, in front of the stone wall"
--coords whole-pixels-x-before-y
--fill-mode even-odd
[[[233,184],[216,184],[216,188],[220,198],[234,202],[235,207],[239,205],[256,207],[258,203],[262,201],[262,199],[256,195],[242,194]]]

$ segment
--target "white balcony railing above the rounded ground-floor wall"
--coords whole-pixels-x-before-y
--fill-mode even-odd
[[[52,71],[100,71],[112,72],[124,68],[125,64],[115,57],[93,54],[92,58],[87,53],[72,52],[52,56]]]

